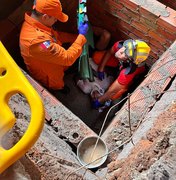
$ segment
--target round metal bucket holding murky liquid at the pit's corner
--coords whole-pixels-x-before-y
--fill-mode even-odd
[[[101,166],[106,161],[107,156],[108,156],[107,146],[102,139],[99,138],[97,147],[96,149],[94,148],[97,142],[97,139],[98,139],[97,136],[86,137],[79,143],[78,148],[77,148],[77,157],[78,157],[79,162],[83,166],[86,165],[86,167],[89,169],[97,168]],[[92,163],[89,164],[90,162]]]

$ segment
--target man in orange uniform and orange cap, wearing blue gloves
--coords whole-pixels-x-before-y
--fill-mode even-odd
[[[80,24],[79,34],[58,33],[52,25],[57,21],[67,22],[59,0],[36,0],[32,13],[25,14],[20,33],[20,49],[31,76],[45,87],[53,90],[64,89],[64,71],[81,55],[86,43],[87,24]],[[63,43],[71,42],[66,50]]]

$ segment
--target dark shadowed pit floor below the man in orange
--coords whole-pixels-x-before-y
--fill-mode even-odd
[[[54,96],[72,111],[73,114],[78,116],[88,127],[95,131],[94,123],[101,113],[99,113],[98,110],[92,109],[90,96],[84,94],[79,87],[77,87],[74,81],[75,74],[76,73],[68,73],[65,75],[64,81],[70,88],[70,93],[63,94],[58,91],[54,93]]]

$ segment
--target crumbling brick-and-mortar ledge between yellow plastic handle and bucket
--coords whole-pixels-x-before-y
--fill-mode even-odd
[[[77,127],[79,135],[93,135],[95,134],[87,125],[84,124],[77,116],[75,116],[69,109],[67,109],[58,99],[51,95],[48,91],[42,92],[42,99],[45,105],[45,117],[47,121],[52,119],[53,127],[60,129],[60,134],[64,137],[72,137]],[[71,121],[70,121],[71,120]],[[66,128],[65,128],[66,127]],[[77,143],[78,139],[69,139],[73,144]]]

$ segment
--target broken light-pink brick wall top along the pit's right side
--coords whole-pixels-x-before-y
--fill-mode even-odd
[[[138,88],[136,88],[136,90],[131,94],[130,111],[128,104],[129,101],[126,102],[119,111],[117,111],[116,116],[111,121],[110,125],[102,135],[102,139],[108,145],[109,150],[115,149],[117,147],[117,142],[124,142],[125,140],[128,139],[127,137],[131,136],[129,133],[130,131],[128,126],[129,117],[131,119],[131,129],[133,128],[135,129],[139,125],[139,122],[143,123],[145,121],[144,120],[145,117],[147,117],[146,121],[150,121],[149,119],[152,117],[152,115],[150,114],[151,116],[150,115],[148,116],[148,112],[150,112],[154,106],[155,107],[158,106],[156,111],[159,112],[160,109],[161,110],[160,113],[161,115],[163,115],[162,112],[164,111],[164,108],[161,108],[161,105],[164,104],[164,101],[162,101],[160,98],[163,95],[164,91],[167,91],[166,94],[168,97],[170,96],[174,99],[174,95],[171,95],[171,91],[175,91],[175,87],[173,85],[172,86],[173,89],[171,88],[172,90],[171,89],[168,90],[168,87],[171,85],[171,83],[173,83],[172,81],[175,79],[175,74],[176,74],[175,48],[176,48],[176,41],[158,59],[157,63],[150,69],[150,73],[146,76],[146,78],[138,86]],[[158,105],[158,102],[160,102],[160,105]],[[164,105],[163,107],[166,108],[167,106]],[[175,108],[174,107],[172,108],[175,111]],[[129,112],[130,112],[130,116],[129,116]],[[168,112],[170,112],[170,110],[168,110]],[[153,116],[153,118],[157,117],[157,115],[156,116],[155,115]],[[163,119],[161,118],[158,122],[160,123],[163,122]],[[158,125],[158,123],[156,124]],[[158,127],[160,125],[158,125]],[[167,126],[167,124],[165,125]],[[146,125],[140,124],[140,126],[146,126]],[[152,126],[154,129],[156,128],[154,124]],[[160,126],[160,129],[162,131],[163,127]],[[143,132],[141,131],[141,133]],[[135,142],[134,144],[136,146]],[[110,159],[117,159],[119,152],[120,149],[116,149],[116,151],[109,154],[108,157]]]

